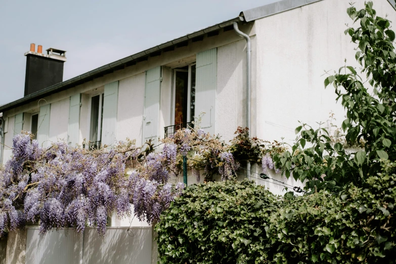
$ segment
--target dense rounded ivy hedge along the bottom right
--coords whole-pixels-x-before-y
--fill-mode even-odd
[[[281,198],[252,182],[193,185],[157,224],[159,263],[395,263],[396,164],[362,187]]]

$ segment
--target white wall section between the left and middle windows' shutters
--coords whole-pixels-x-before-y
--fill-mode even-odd
[[[69,125],[70,98],[51,104],[50,138],[51,142],[67,141],[67,128]],[[38,124],[40,125],[40,124]]]

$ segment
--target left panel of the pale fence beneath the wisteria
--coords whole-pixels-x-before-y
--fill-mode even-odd
[[[37,228],[27,230],[26,263],[29,264],[78,264],[80,235],[69,230],[52,231],[40,235]]]

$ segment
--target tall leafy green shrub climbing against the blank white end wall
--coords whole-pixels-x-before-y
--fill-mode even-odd
[[[373,3],[368,2],[360,11],[348,8],[348,15],[360,27],[348,28],[345,34],[358,44],[356,59],[374,95],[351,66],[341,67],[324,82],[325,86],[334,86],[337,101],[346,110],[342,129],[347,144],[364,142],[364,149],[350,154],[342,144],[332,144],[326,129],[302,124],[296,128],[298,137],[291,151],[274,153],[272,157],[287,177],[306,180],[306,188],[312,191],[315,186],[336,191],[350,182],[362,186],[368,177],[376,175],[380,159],[396,160],[395,36],[390,21],[376,16],[372,7]]]

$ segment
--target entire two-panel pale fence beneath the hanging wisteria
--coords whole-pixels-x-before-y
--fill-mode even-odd
[[[26,263],[90,264],[151,263],[151,227],[108,227],[101,237],[96,229],[85,228],[79,235],[63,230],[40,235],[38,227],[27,229]]]

